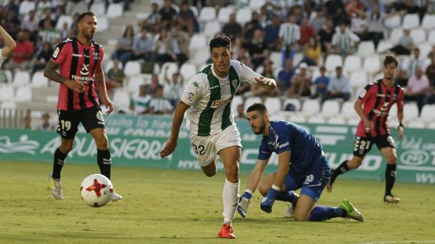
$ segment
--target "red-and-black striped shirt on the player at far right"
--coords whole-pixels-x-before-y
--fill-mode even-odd
[[[375,125],[375,130],[371,131],[370,136],[389,134],[387,122],[389,109],[396,103],[397,109],[403,110],[403,94],[403,88],[400,85],[387,87],[382,79],[366,85],[359,99],[363,100],[364,114]],[[356,136],[368,136],[363,120],[360,120],[356,128]]]

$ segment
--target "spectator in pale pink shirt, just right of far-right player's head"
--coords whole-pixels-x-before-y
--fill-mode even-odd
[[[424,106],[424,98],[427,92],[430,91],[429,79],[423,73],[422,68],[417,66],[415,68],[415,75],[411,76],[408,80],[408,85],[405,90],[405,101],[417,101],[418,114],[422,111]]]

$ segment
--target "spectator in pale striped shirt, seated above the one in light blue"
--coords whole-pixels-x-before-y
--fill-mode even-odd
[[[332,45],[335,53],[338,55],[352,55],[355,52],[356,43],[359,42],[359,37],[350,29],[347,29],[347,24],[342,22],[340,30],[334,34]]]

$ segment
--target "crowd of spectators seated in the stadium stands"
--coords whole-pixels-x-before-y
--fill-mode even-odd
[[[19,15],[19,2],[8,1],[0,7],[0,22],[17,41],[17,48],[4,69],[32,72],[44,68],[55,43],[76,34],[74,22],[70,26],[63,24],[61,30],[55,29],[58,17],[73,15],[75,20],[76,11],[87,10],[93,3],[35,1],[34,10]],[[128,8],[130,1],[123,2]],[[149,85],[140,84],[140,92],[131,96],[130,109],[122,110],[123,113],[172,112],[180,99],[183,82],[190,78],[182,77],[180,68],[186,63],[196,64],[195,53],[189,45],[196,34],[208,31],[206,24],[209,22],[201,22],[198,13],[210,7],[215,9],[214,13],[219,13],[228,9],[228,6],[232,7],[232,13],[214,35],[229,36],[234,59],[239,59],[257,73],[274,78],[279,86],[275,91],[265,91],[255,85],[242,83],[237,95],[279,96],[281,99],[307,97],[322,102],[337,98],[340,101],[354,99],[368,80],[380,78],[380,66],[376,70],[365,70],[368,79],[359,89],[350,84],[350,76],[351,71],[361,71],[363,59],[358,57],[356,69],[349,71],[344,68],[353,62],[350,57],[361,56],[359,47],[363,43],[373,42],[374,50],[381,51],[364,58],[370,59],[370,55],[376,55],[379,61],[387,52],[399,55],[401,62],[397,82],[406,88],[406,101],[416,101],[419,113],[424,104],[435,103],[435,43],[430,43],[433,46],[428,51],[429,55],[422,57],[419,50],[421,42],[416,43],[406,22],[400,26],[399,20],[399,26],[396,26],[402,27],[399,33],[386,26],[389,20],[404,18],[410,13],[417,14],[417,26],[421,26],[424,15],[429,13],[430,1],[388,1],[387,5],[380,0],[260,1],[264,5],[250,11],[251,17],[246,23],[237,21],[236,10],[248,8],[249,1],[151,2],[147,17],[138,24],[128,25],[120,34],[114,52],[107,54],[106,59],[111,57],[114,62],[113,68],[107,73],[109,89],[126,86],[123,81],[128,77],[123,67],[130,61],[140,61],[144,73],[152,73],[154,64],[163,68],[168,62],[177,64],[178,70],[170,73],[161,70],[152,74],[151,82],[147,82]],[[397,44],[380,48],[394,31]],[[208,45],[203,49],[208,50]],[[280,58],[272,57],[273,53],[281,53]],[[333,66],[328,66],[327,59],[330,56],[339,57],[344,62],[331,62]],[[348,60],[349,63],[346,62]],[[200,68],[197,64],[196,69]]]

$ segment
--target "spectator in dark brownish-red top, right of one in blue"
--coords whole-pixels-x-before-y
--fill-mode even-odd
[[[291,80],[290,90],[288,91],[288,96],[299,97],[299,96],[310,96],[311,95],[311,74],[308,71],[308,65],[301,63],[295,72]]]

